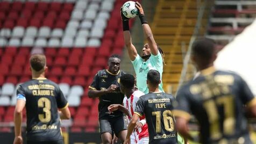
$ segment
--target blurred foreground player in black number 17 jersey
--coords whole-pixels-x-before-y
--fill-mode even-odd
[[[200,125],[201,143],[250,144],[246,112],[256,116],[256,99],[239,75],[214,68],[216,57],[213,40],[201,39],[193,45],[191,58],[200,75],[177,92],[173,111],[177,129],[193,139],[188,133],[191,113]]]

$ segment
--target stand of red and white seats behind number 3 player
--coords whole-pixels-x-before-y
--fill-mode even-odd
[[[88,85],[97,70],[106,68],[111,54],[122,54],[119,11],[124,2],[1,1],[0,123],[13,121],[16,86],[31,77],[30,55],[44,53],[47,77],[59,83],[69,102],[70,131],[96,132],[98,99],[88,98]],[[11,127],[0,128],[0,132],[11,131]]]

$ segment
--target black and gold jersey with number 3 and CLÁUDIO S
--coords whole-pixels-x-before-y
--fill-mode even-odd
[[[19,85],[17,99],[26,101],[27,140],[61,140],[58,109],[68,106],[58,84],[46,78]]]

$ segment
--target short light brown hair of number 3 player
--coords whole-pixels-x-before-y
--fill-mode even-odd
[[[33,54],[30,57],[30,66],[35,71],[40,71],[46,66],[46,57],[44,54]]]

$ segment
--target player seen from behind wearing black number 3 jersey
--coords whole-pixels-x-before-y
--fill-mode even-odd
[[[21,124],[22,111],[26,107],[27,143],[63,143],[60,119],[69,119],[68,103],[58,84],[45,78],[46,57],[35,54],[30,57],[32,80],[19,85],[14,114],[15,140],[23,143]],[[60,112],[58,112],[60,109]]]

